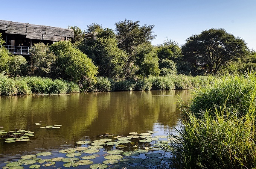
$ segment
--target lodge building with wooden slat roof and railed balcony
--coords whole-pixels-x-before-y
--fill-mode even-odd
[[[74,38],[73,29],[3,20],[0,20],[0,33],[9,52],[21,55],[29,55],[29,50],[35,43],[53,44]]]

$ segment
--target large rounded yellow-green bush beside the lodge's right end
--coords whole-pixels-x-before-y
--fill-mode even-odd
[[[58,57],[56,60],[58,77],[75,82],[84,77],[95,80],[97,67],[80,50],[72,47],[71,42],[56,42],[50,46],[50,51]]]

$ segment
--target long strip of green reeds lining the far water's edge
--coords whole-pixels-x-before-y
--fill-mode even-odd
[[[35,76],[9,78],[0,74],[0,95],[66,94],[78,92],[149,91],[194,89],[207,84],[213,77],[172,75],[148,79],[114,81],[96,77],[96,82],[73,83],[62,79]]]

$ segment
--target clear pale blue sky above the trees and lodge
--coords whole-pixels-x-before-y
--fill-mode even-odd
[[[154,25],[153,45],[171,39],[181,46],[203,30],[222,28],[256,50],[256,0],[12,0],[1,7],[0,20],[82,30],[139,20]]]

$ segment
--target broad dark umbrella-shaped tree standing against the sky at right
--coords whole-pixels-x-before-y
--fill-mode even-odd
[[[216,74],[227,63],[245,56],[247,46],[224,29],[209,29],[190,36],[181,50],[185,61],[203,66],[206,74]]]

